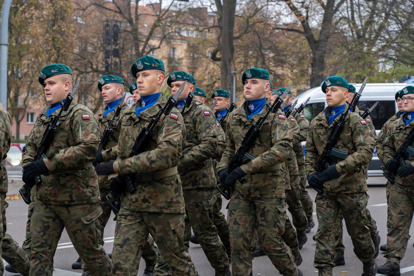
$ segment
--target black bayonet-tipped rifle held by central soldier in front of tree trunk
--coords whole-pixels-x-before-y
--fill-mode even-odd
[[[234,154],[233,158],[231,159],[229,163],[229,171],[233,171],[234,169],[237,169],[238,167],[242,166],[245,163],[248,163],[249,161],[253,160],[254,157],[247,153],[247,151],[250,149],[250,147],[253,145],[256,138],[259,136],[261,127],[263,126],[263,123],[269,118],[270,112],[276,112],[280,106],[282,105],[283,99],[288,94],[288,92],[291,90],[292,83],[288,86],[286,91],[280,95],[277,96],[275,102],[272,106],[267,106],[267,112],[265,115],[261,116],[257,123],[253,124],[250,129],[247,131],[247,134],[245,138],[243,138],[243,141],[240,145],[239,150]],[[239,181],[242,181],[242,179],[239,179]],[[224,196],[225,199],[230,199],[231,191],[228,190],[223,184],[217,185],[217,190],[220,191],[220,193]]]

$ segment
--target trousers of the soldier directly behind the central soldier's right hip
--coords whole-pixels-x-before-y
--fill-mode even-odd
[[[293,175],[292,178],[299,181],[299,175]],[[301,188],[299,186],[291,186],[291,190],[286,191],[286,203],[288,203],[288,210],[292,214],[292,223],[296,228],[298,236],[306,235],[307,218],[301,203]]]

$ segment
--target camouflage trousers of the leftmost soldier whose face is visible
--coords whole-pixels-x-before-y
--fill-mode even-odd
[[[53,275],[53,257],[64,228],[92,274],[110,275],[109,257],[98,243],[101,214],[98,203],[54,205],[36,199],[31,216],[30,275]]]

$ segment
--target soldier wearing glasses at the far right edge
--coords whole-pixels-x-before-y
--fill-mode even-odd
[[[388,171],[395,173],[394,183],[389,183],[387,210],[387,252],[385,264],[378,267],[384,275],[400,275],[399,264],[407,250],[409,229],[414,212],[414,167],[413,153],[402,155],[405,165],[394,159],[414,123],[414,86],[407,86],[399,94],[405,113],[390,124],[383,141],[383,160]],[[413,147],[413,142],[410,144]]]

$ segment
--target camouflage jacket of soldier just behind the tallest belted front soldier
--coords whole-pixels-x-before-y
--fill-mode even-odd
[[[223,130],[213,112],[199,101],[193,100],[183,119],[186,133],[178,166],[183,189],[214,188],[212,157],[217,155],[217,137]]]

